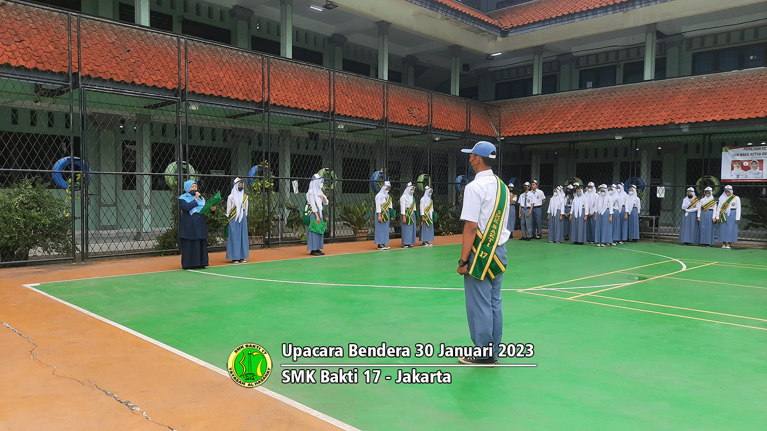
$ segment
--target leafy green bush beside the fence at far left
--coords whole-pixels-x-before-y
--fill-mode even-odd
[[[64,200],[40,179],[25,178],[0,191],[0,261],[28,260],[29,251],[71,256],[71,218]]]

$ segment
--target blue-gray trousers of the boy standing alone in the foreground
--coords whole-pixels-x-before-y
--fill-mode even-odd
[[[495,249],[495,255],[506,265],[506,245]],[[474,253],[469,253],[469,267],[474,261]],[[503,334],[503,312],[501,309],[501,282],[503,273],[484,280],[472,276],[463,276],[463,289],[466,294],[466,318],[469,320],[469,335],[477,347],[487,347],[492,343],[492,356],[498,361],[499,344]]]

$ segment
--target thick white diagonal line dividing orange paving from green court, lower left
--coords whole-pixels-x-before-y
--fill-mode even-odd
[[[73,309],[76,309],[79,312],[83,312],[86,315],[89,315],[93,318],[97,318],[101,322],[108,323],[109,325],[114,326],[115,328],[120,328],[123,331],[126,331],[130,335],[135,335],[138,338],[141,338],[144,341],[149,341],[150,343],[160,347],[164,348],[166,351],[173,352],[177,355],[179,355],[182,358],[188,359],[189,361],[194,362],[195,364],[202,365],[202,367],[206,367],[210,371],[213,371],[215,373],[221,374],[222,376],[226,377],[227,379],[231,379],[232,377],[229,377],[229,373],[225,370],[222,370],[219,367],[216,367],[215,365],[208,364],[206,361],[202,361],[201,359],[193,357],[191,354],[186,354],[183,351],[180,351],[176,348],[170,347],[168,344],[161,343],[160,341],[155,340],[154,338],[147,337],[146,335],[141,334],[140,332],[133,331],[133,329],[128,328],[127,326],[120,325],[117,322],[112,322],[108,318],[101,317],[100,315],[97,315],[95,313],[89,312],[86,309],[83,309],[81,307],[78,307],[77,305],[71,304],[70,302],[66,302],[63,299],[58,299],[54,295],[49,295],[46,292],[43,292],[39,289],[35,289],[34,286],[40,286],[40,283],[34,283],[34,284],[24,284],[21,285],[26,287],[27,289],[34,290],[35,292],[41,293],[42,295],[48,296],[48,298],[53,299],[54,301],[61,302],[64,305],[68,305]],[[265,395],[268,395],[269,397],[274,398],[275,400],[280,400],[283,403],[288,404],[288,406],[295,407],[298,410],[301,410],[304,413],[308,413],[311,416],[314,416],[318,418],[319,420],[324,420],[324,422],[330,423],[331,425],[337,426],[340,429],[344,429],[344,431],[361,431],[360,429],[355,428],[354,426],[351,426],[347,423],[343,423],[340,420],[334,419],[331,416],[328,416],[324,413],[318,412],[317,410],[312,409],[311,407],[304,406],[304,404],[299,403],[298,401],[291,400],[288,397],[285,397],[284,395],[280,395],[279,393],[276,393],[273,390],[268,390],[265,387],[255,387],[253,388],[255,390],[258,390],[258,392],[264,393]]]

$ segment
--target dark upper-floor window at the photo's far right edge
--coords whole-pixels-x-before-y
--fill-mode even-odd
[[[767,44],[729,47],[693,54],[693,75],[767,66]]]

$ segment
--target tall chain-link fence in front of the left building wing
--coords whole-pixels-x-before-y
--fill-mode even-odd
[[[395,202],[435,188],[436,230],[455,233],[458,150],[498,143],[497,106],[21,2],[0,18],[0,220],[18,226],[3,263],[178,253],[188,179],[224,202],[246,181],[252,246],[305,240],[314,174],[330,241],[372,237],[384,179]],[[212,250],[224,212],[207,216]]]

